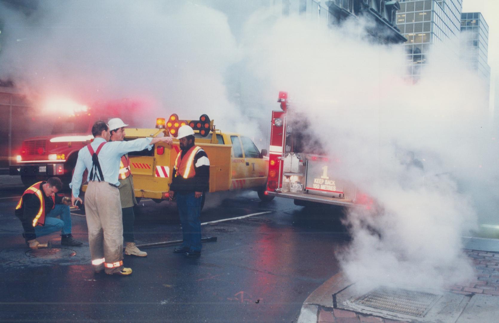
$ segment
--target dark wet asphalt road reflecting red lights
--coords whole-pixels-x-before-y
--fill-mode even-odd
[[[296,322],[303,301],[339,272],[335,248],[348,234],[335,209],[304,209],[287,199],[259,202],[255,192],[207,197],[199,259],[174,247],[125,256],[133,274],[94,274],[85,218],[73,219],[82,247],[30,252],[13,210],[22,189],[0,190],[0,322]],[[12,197],[12,198],[11,198]],[[145,200],[136,209],[137,244],[182,239],[175,208]]]

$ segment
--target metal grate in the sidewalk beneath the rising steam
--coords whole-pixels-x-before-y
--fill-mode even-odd
[[[379,287],[354,303],[375,309],[424,317],[437,303],[439,295]]]

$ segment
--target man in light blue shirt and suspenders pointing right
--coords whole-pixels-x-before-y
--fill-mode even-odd
[[[130,268],[123,267],[123,223],[118,174],[121,156],[131,151],[151,149],[157,142],[172,144],[171,137],[140,138],[131,141],[107,142],[109,127],[103,121],[92,126],[94,140],[80,149],[70,184],[71,202],[82,203],[78,197],[83,172],[88,170],[85,193],[85,216],[88,226],[90,256],[96,273],[127,276]]]

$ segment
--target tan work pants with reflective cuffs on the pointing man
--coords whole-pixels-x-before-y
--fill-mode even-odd
[[[85,192],[90,257],[94,270],[123,269],[123,222],[120,191],[107,182],[90,181]]]

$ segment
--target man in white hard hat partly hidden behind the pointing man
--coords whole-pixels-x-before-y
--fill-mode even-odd
[[[123,141],[125,138],[125,124],[120,118],[113,118],[109,120],[109,133],[111,139],[109,141]],[[120,172],[118,180],[120,185],[120,200],[121,200],[121,214],[123,215],[123,239],[125,240],[125,255],[146,257],[147,253],[140,251],[135,245],[135,237],[133,235],[133,226],[135,222],[135,214],[133,207],[137,205],[135,199],[135,192],[133,189],[133,175],[130,171],[130,159],[128,154],[121,156]]]

